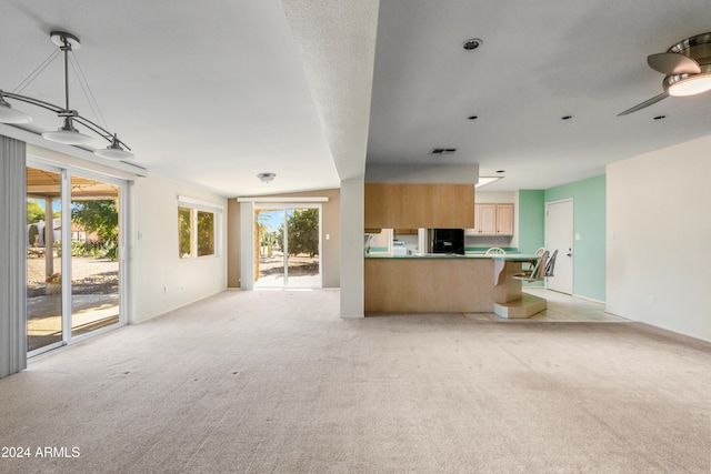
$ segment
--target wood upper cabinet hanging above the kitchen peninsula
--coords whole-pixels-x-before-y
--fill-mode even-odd
[[[365,228],[469,229],[473,184],[365,183]]]

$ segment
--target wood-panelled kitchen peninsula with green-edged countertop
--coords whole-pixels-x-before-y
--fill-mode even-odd
[[[495,313],[529,317],[545,300],[512,276],[534,255],[367,255],[365,313]]]

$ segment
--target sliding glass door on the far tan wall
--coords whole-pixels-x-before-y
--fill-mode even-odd
[[[256,288],[320,288],[320,206],[254,210]]]

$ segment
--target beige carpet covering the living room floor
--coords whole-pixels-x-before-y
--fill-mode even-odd
[[[711,344],[338,307],[226,292],[36,359],[0,380],[0,445],[32,454],[0,472],[711,472]]]

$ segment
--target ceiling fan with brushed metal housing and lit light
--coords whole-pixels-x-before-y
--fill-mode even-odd
[[[647,57],[650,68],[664,75],[664,92],[618,113],[627,115],[662,99],[695,95],[711,90],[711,32],[697,34],[671,46],[667,52]]]

